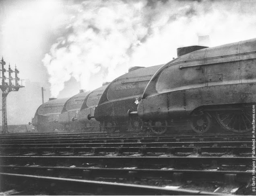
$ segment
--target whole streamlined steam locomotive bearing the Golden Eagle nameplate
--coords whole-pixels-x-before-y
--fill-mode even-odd
[[[153,67],[132,67],[128,73],[112,81],[103,92],[95,109],[95,119],[101,129],[108,133],[133,129],[140,131],[142,120],[130,118],[128,110],[137,110],[149,80],[162,65]]]

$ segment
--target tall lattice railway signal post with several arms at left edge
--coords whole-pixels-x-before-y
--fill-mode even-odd
[[[16,68],[15,65],[15,70],[13,71],[10,68],[10,64],[9,64],[9,68],[8,70],[4,69],[4,65],[6,64],[4,62],[4,59],[2,57],[2,60],[0,61],[0,64],[2,65],[2,69],[0,69],[0,71],[2,71],[2,83],[0,85],[0,89],[2,90],[2,133],[8,133],[8,128],[7,128],[7,114],[6,114],[6,97],[8,95],[9,92],[11,91],[18,91],[19,88],[23,88],[24,86],[19,85],[19,78],[18,78],[18,69]],[[6,76],[4,76],[4,73],[8,71],[9,72],[9,78],[6,78]],[[12,78],[11,74],[15,73],[15,78]],[[5,82],[5,80],[8,79],[8,83]],[[15,80],[15,84],[12,84],[12,80]]]

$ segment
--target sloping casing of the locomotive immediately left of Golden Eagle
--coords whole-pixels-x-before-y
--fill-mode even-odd
[[[99,99],[101,98],[101,95],[106,88],[107,85],[101,86],[86,96],[80,110],[78,111],[77,117],[78,122],[83,124],[84,129],[99,130],[99,122],[97,122],[95,118],[91,118],[89,120],[88,115],[94,116],[94,112],[98,106]]]

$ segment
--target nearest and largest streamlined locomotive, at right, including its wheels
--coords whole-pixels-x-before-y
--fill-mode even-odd
[[[251,39],[178,49],[178,58],[151,78],[137,114],[158,133],[180,120],[205,133],[213,119],[227,131],[242,133],[252,130],[255,100],[256,39]]]

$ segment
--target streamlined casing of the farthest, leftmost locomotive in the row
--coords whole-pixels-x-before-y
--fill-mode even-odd
[[[32,119],[37,131],[48,132],[60,129],[59,115],[68,98],[54,99],[41,104]]]

